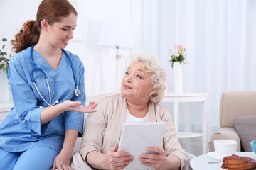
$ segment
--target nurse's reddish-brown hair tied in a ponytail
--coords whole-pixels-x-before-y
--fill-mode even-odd
[[[16,53],[38,42],[41,31],[41,21],[45,19],[50,25],[59,22],[61,17],[78,13],[67,0],[43,0],[38,6],[36,21],[31,20],[23,24],[19,33],[15,35],[15,40],[11,40],[11,45]]]

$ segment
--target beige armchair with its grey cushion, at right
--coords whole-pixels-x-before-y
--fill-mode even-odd
[[[220,97],[220,129],[210,137],[209,152],[215,151],[213,141],[235,140],[237,151],[252,152],[250,141],[256,140],[256,91],[225,91]]]

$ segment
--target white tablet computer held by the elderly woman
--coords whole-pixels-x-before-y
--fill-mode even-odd
[[[149,147],[161,146],[165,127],[165,122],[123,123],[118,151],[129,152],[134,157],[125,169],[152,169],[142,165],[139,157],[141,154],[150,153]]]

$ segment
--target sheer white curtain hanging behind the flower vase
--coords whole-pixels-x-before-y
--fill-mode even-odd
[[[208,93],[209,140],[218,130],[222,92],[256,90],[256,1],[142,0],[141,3],[142,51],[159,57],[168,74],[169,92],[174,89],[168,52],[174,50],[174,45],[186,46],[188,64],[183,64],[183,91]],[[184,119],[188,117],[192,124],[197,124],[193,107],[183,106]],[[187,111],[192,115],[186,115]]]

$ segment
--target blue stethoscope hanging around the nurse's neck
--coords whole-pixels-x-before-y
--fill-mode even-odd
[[[58,100],[55,101],[55,103],[51,104],[51,94],[50,94],[50,86],[49,86],[49,82],[48,82],[48,79],[47,79],[47,76],[46,76],[46,73],[43,72],[43,69],[40,69],[40,68],[36,68],[35,67],[35,64],[33,63],[33,55],[32,55],[32,52],[33,52],[33,47],[34,47],[34,44],[31,46],[31,50],[30,50],[30,57],[31,57],[31,64],[33,66],[33,69],[31,70],[30,74],[31,74],[31,81],[33,82],[35,88],[36,88],[36,91],[38,91],[38,94],[41,96],[41,98],[43,99],[43,101],[45,101],[47,104],[48,104],[48,107],[49,106],[54,106],[55,104],[59,103]],[[65,53],[65,55],[68,57],[68,60],[70,61],[70,65],[71,65],[71,69],[72,69],[72,72],[73,72],[73,77],[74,77],[74,81],[75,81],[75,96],[78,96],[79,94],[81,94],[81,91],[80,89],[78,89],[78,84],[77,84],[77,81],[75,80],[75,73],[74,73],[74,67],[73,67],[73,63],[71,62],[70,60],[70,57],[68,56],[67,52],[62,49],[63,52]],[[38,90],[38,86],[36,86],[36,81],[33,79],[33,72],[35,70],[38,70],[39,72],[41,72],[43,74],[43,77],[46,79],[46,84],[48,86],[48,91],[49,91],[49,96],[50,96],[50,101],[49,103],[46,101],[45,98],[43,98],[43,96],[41,95],[40,91]]]

